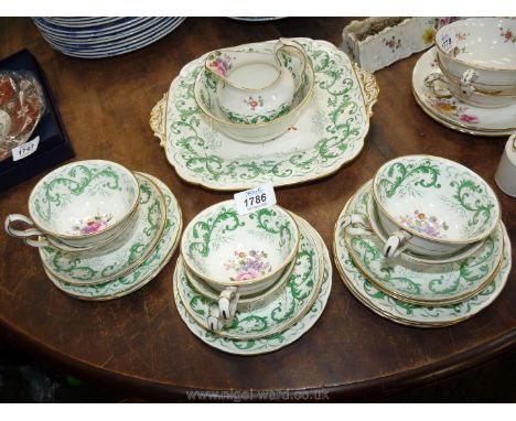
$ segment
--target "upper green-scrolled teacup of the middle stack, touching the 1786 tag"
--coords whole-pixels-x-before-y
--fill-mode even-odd
[[[219,310],[230,319],[229,303],[269,289],[293,260],[299,228],[275,205],[239,215],[234,201],[215,204],[185,228],[181,255],[190,272],[219,293]]]

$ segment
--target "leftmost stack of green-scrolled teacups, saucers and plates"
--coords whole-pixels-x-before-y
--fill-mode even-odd
[[[51,281],[80,300],[112,300],[146,285],[172,257],[182,227],[166,185],[101,160],[47,174],[30,195],[29,213],[9,215],[6,230],[39,247]],[[15,229],[17,222],[35,228]]]

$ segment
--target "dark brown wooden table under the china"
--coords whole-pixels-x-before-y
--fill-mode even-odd
[[[180,180],[152,136],[150,110],[181,67],[209,50],[280,35],[340,45],[348,21],[299,18],[250,24],[191,18],[147,48],[86,61],[52,50],[30,19],[2,18],[0,56],[23,47],[35,55],[77,160],[114,160],[160,177],[175,193],[187,223],[203,208],[232,196]],[[467,165],[495,188],[516,245],[516,201],[494,182],[506,139],[461,134],[427,117],[410,90],[418,57],[376,73],[379,101],[365,148],[355,161],[324,180],[278,190],[279,203],[308,219],[331,247],[333,226],[345,202],[384,162],[410,153],[442,155]],[[2,222],[9,213],[26,212],[26,198],[39,180],[35,176],[1,194]],[[462,324],[431,331],[404,327],[373,314],[351,295],[334,268],[326,310],[308,334],[269,355],[237,357],[204,345],[181,321],[172,298],[178,252],[147,287],[104,303],[61,293],[45,278],[36,250],[6,234],[0,234],[0,331],[6,337],[86,380],[148,399],[182,400],[186,391],[197,389],[254,389],[376,400],[514,355],[516,344],[514,267],[493,305]]]

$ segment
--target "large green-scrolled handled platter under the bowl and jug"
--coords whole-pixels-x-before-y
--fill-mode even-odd
[[[329,42],[295,41],[313,63],[313,98],[293,127],[264,144],[230,139],[201,114],[193,87],[206,54],[183,67],[150,120],[182,179],[221,191],[298,184],[336,172],[361,152],[378,96],[374,76]],[[272,51],[273,42],[235,48],[254,46]]]

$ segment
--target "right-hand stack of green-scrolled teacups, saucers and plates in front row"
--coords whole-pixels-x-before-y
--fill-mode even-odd
[[[350,198],[334,257],[348,290],[393,322],[440,327],[488,306],[510,271],[510,240],[491,187],[437,156],[383,165]]]

